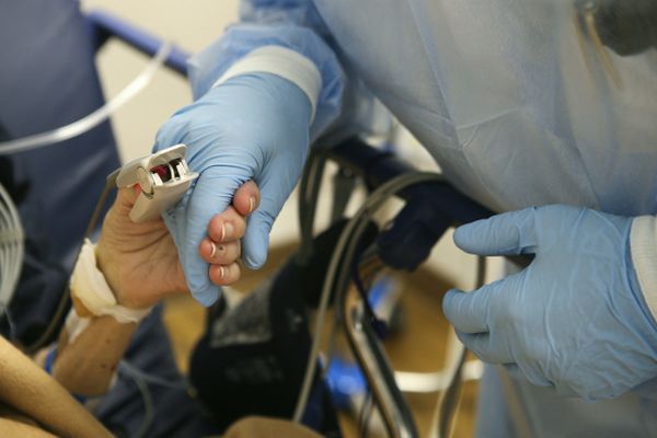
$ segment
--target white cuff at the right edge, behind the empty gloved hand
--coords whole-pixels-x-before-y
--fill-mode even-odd
[[[639,216],[632,221],[630,247],[638,285],[657,320],[657,220],[654,216]]]

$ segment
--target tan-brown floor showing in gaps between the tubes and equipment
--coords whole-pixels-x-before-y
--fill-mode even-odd
[[[265,267],[258,272],[246,272],[237,285],[239,290],[251,290],[291,253],[293,247],[274,250]],[[385,348],[395,369],[430,372],[441,368],[447,322],[440,309],[441,297],[449,285],[426,269],[402,276],[404,289],[402,306],[404,318],[402,330],[385,342]],[[175,297],[165,303],[164,321],[169,328],[176,362],[182,372],[187,371],[187,360],[196,341],[203,333],[205,311],[191,297]],[[472,437],[476,383],[465,383],[459,407],[454,437]],[[420,436],[426,436],[437,401],[437,394],[406,394]],[[348,413],[339,414],[346,438],[357,437],[356,422]],[[382,436],[376,433],[369,436]]]

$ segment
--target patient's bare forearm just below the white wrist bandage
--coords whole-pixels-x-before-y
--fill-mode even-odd
[[[53,377],[74,394],[104,394],[136,328],[137,324],[120,324],[112,316],[92,318],[72,343],[64,330]]]

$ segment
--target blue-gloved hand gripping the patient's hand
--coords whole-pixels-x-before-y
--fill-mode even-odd
[[[163,216],[187,285],[204,306],[219,293],[198,254],[208,222],[230,205],[242,183],[253,178],[261,205],[249,218],[242,260],[251,268],[265,263],[272,223],[308,154],[311,111],[310,100],[292,82],[249,73],[210,89],[160,128],[154,150],[185,143],[189,168],[200,173],[192,191]]]

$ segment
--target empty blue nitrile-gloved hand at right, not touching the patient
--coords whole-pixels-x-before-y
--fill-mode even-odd
[[[630,255],[631,218],[568,206],[528,208],[460,227],[481,255],[535,254],[522,272],[442,308],[463,344],[514,377],[564,395],[615,397],[657,376],[657,325]]]

